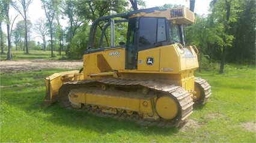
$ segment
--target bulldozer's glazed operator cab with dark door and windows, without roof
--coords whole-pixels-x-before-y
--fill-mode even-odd
[[[137,66],[138,51],[180,43],[184,46],[182,25],[165,17],[134,17],[129,19],[126,42],[126,69]]]

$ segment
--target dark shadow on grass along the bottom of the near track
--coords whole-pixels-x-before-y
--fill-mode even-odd
[[[49,118],[44,118],[44,120],[74,128],[82,126],[85,130],[101,134],[114,133],[116,130],[133,130],[143,132],[145,135],[159,134],[169,136],[178,132],[176,127],[141,126],[133,120],[100,117],[82,109],[63,109],[59,107],[58,103],[47,108],[39,108],[43,109],[43,112],[52,115]]]

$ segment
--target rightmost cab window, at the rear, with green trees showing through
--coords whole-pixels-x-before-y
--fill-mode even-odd
[[[179,42],[182,43],[182,32],[181,28],[177,24],[170,23],[170,38],[171,43]]]

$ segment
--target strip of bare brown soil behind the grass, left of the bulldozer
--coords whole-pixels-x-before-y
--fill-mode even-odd
[[[82,60],[2,60],[0,61],[0,73],[19,71],[38,71],[40,69],[81,69]]]

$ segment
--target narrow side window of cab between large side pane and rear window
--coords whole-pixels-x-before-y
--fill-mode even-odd
[[[166,41],[165,19],[157,20],[157,42]]]

